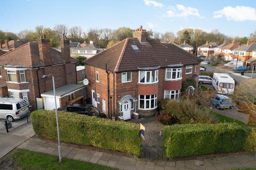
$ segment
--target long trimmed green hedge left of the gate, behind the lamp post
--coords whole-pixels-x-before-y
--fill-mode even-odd
[[[68,112],[58,112],[58,118],[63,142],[140,155],[142,140],[137,124]],[[38,136],[57,140],[55,111],[34,111],[31,121]]]

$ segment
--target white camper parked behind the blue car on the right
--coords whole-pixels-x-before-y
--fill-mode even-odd
[[[235,80],[226,73],[213,73],[212,86],[219,94],[233,94]]]

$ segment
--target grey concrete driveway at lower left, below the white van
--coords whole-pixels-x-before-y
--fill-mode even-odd
[[[9,133],[0,132],[0,158],[34,135],[35,132],[31,122],[26,123]]]

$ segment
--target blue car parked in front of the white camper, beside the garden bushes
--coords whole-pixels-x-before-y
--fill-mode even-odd
[[[230,98],[225,95],[213,95],[211,99],[211,104],[217,109],[233,108]]]

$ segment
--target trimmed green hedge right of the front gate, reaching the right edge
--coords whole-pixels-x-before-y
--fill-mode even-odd
[[[164,127],[167,158],[256,150],[256,130],[236,123],[177,124]]]

